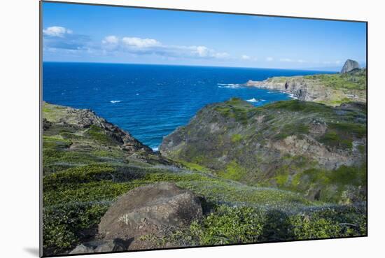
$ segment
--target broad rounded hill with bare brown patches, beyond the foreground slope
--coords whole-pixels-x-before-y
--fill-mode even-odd
[[[366,106],[294,100],[255,108],[231,99],[200,110],[165,137],[160,152],[249,185],[295,189],[311,199],[340,199],[348,191],[361,199]]]

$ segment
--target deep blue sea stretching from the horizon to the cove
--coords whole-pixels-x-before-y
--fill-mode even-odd
[[[248,80],[321,73],[280,69],[141,64],[43,63],[43,100],[90,108],[151,148],[208,103],[233,96],[260,106],[290,99],[241,87]]]

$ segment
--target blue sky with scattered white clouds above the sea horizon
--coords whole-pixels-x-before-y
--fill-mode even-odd
[[[339,71],[366,24],[43,3],[43,60]]]

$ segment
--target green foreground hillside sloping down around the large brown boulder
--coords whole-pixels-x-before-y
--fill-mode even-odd
[[[167,238],[144,236],[158,247],[366,234],[365,206],[245,185],[196,163],[162,157],[90,110],[43,104],[44,255],[66,254],[97,239],[97,224],[118,196],[159,181],[201,196],[205,216],[172,229]]]

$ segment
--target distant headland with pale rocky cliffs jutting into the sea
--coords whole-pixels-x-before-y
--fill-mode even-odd
[[[279,90],[302,101],[329,106],[348,102],[366,102],[366,70],[356,69],[344,74],[273,77],[263,81],[249,80],[250,87]]]

